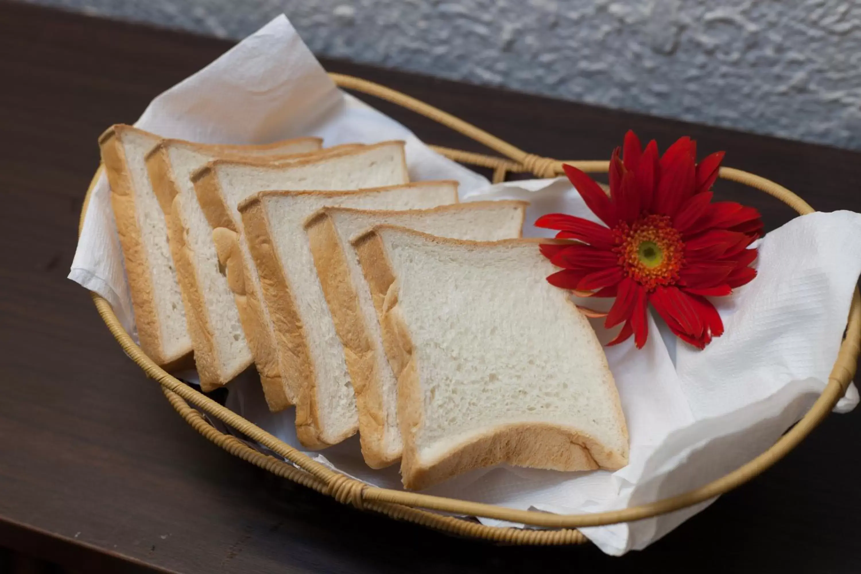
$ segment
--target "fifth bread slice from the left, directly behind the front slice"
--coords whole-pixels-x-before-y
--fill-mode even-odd
[[[411,211],[325,207],[306,224],[314,265],[329,304],[359,412],[362,455],[372,468],[400,459],[397,384],[382,347],[374,301],[350,241],[375,225],[400,225],[446,238],[519,238],[525,201],[478,201]]]

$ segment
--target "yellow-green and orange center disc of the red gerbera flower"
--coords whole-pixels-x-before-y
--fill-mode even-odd
[[[682,236],[666,215],[643,215],[633,224],[620,223],[613,230],[619,265],[625,275],[647,291],[678,282],[678,270],[684,262]]]

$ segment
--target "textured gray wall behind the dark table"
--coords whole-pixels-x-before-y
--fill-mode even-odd
[[[861,149],[861,3],[28,0],[242,38],[281,12],[319,54]]]

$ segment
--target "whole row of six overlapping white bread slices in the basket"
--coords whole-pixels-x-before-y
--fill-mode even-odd
[[[117,125],[99,143],[159,365],[194,365],[204,392],[256,368],[304,447],[358,432],[407,488],[627,464],[604,352],[521,238],[524,202],[410,182],[400,141],[204,145]]]

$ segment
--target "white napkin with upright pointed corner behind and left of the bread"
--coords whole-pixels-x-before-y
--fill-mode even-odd
[[[403,139],[413,180],[455,179],[461,193],[489,184],[431,151],[397,121],[339,90],[284,15],[156,97],[134,125],[165,138],[204,143],[319,136],[331,146]],[[90,197],[69,278],[108,299],[134,335],[121,262],[108,182],[102,176]]]

